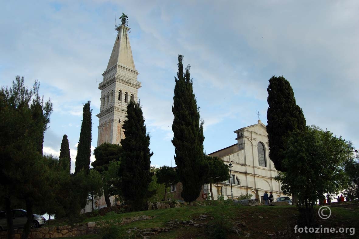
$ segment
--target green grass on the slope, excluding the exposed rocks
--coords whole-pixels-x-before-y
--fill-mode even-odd
[[[318,207],[314,208],[317,215]],[[330,219],[318,221],[323,226],[345,226],[358,227],[359,209],[348,209],[331,207],[332,216]],[[163,210],[141,211],[130,213],[108,213],[105,216],[96,216],[87,218],[84,222],[107,221],[108,225],[113,222],[120,221],[121,218],[129,218],[135,216],[152,216],[153,219],[136,221],[122,226],[116,226],[118,231],[116,238],[130,238],[127,230],[136,227],[137,229],[168,227],[166,222],[171,220],[193,220],[196,224],[206,223],[204,226],[179,225],[177,228],[150,235],[151,239],[207,239],[211,238],[209,231],[213,227],[209,225],[217,225],[220,223],[218,218],[222,218],[230,227],[236,225],[240,232],[240,236],[250,234],[252,239],[269,238],[269,234],[275,231],[283,231],[292,229],[296,225],[299,212],[295,206],[232,206],[228,205],[225,210],[221,211],[218,206],[186,206],[181,208],[170,208]],[[197,220],[199,215],[207,215],[205,220]],[[215,216],[216,215],[216,216]],[[216,218],[214,218],[216,217]],[[100,239],[102,235],[78,236],[76,239]],[[229,239],[238,238],[238,234],[229,233]],[[329,237],[330,238],[330,237]],[[115,238],[114,238],[115,239]]]

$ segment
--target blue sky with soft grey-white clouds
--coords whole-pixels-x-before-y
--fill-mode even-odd
[[[92,152],[97,146],[98,84],[122,12],[131,28],[152,165],[175,166],[178,54],[191,65],[206,153],[236,143],[233,131],[256,124],[257,111],[266,124],[273,75],[290,82],[308,125],[359,148],[358,1],[2,1],[0,86],[11,86],[16,75],[29,87],[41,83],[40,92],[53,102],[43,151],[58,157],[66,134],[71,171],[87,101]]]

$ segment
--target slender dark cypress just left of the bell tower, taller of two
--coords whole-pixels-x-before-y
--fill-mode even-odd
[[[84,111],[82,115],[82,124],[80,131],[80,140],[77,146],[77,155],[75,162],[75,174],[79,173],[81,169],[86,174],[90,171],[90,157],[91,157],[91,112],[90,101],[84,105]]]

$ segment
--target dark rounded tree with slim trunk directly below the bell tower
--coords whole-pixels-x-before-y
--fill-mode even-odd
[[[110,143],[103,143],[97,146],[94,150],[94,155],[96,160],[92,162],[92,166],[96,171],[100,174],[103,174],[108,170],[108,165],[111,161],[120,161],[122,154],[122,146],[117,144],[110,144]],[[111,207],[111,201],[109,199],[109,195],[112,195],[109,192],[109,187],[112,185],[118,186],[118,182],[114,182],[112,178],[109,179],[110,181],[103,180],[103,191],[104,197],[106,201],[107,207]]]

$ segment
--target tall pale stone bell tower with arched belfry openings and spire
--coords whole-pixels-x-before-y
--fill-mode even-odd
[[[116,28],[117,37],[103,72],[103,81],[98,84],[101,90],[101,107],[96,116],[99,118],[97,146],[107,142],[120,144],[125,137],[122,124],[126,120],[127,103],[137,102],[137,92],[141,82],[132,58],[130,40],[125,24]]]

